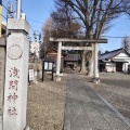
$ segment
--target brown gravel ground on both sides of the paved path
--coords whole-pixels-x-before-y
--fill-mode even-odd
[[[101,73],[98,84],[90,77],[79,75],[130,121],[130,75]],[[61,82],[46,77],[43,83],[28,88],[27,125],[30,130],[63,130],[67,75],[64,74]]]

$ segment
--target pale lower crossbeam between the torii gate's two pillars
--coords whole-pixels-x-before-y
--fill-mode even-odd
[[[62,47],[62,50],[94,50],[93,47]]]

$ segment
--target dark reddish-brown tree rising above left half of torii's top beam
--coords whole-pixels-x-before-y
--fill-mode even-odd
[[[66,5],[56,5],[56,11],[51,13],[53,20],[53,35],[58,38],[78,37],[80,24],[74,20],[73,10]]]

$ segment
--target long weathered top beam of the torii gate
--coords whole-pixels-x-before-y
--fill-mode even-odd
[[[72,38],[50,38],[50,41],[55,42],[89,42],[89,43],[107,43],[107,39],[72,39]]]

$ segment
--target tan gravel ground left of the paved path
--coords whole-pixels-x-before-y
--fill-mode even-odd
[[[51,81],[28,87],[27,125],[30,130],[63,130],[66,76],[62,82]]]

